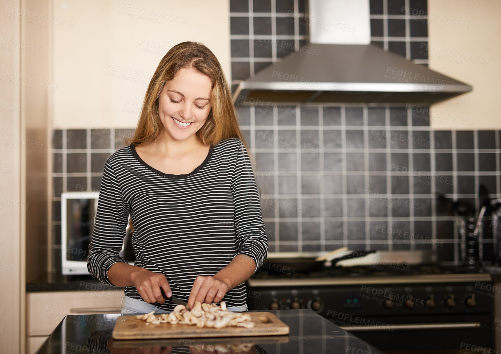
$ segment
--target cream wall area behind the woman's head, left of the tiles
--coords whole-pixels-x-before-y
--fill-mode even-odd
[[[231,80],[229,0],[55,0],[54,16],[66,20],[54,26],[54,129],[135,128],[158,63],[184,41]]]

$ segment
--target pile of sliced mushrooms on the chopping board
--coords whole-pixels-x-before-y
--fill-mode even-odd
[[[162,313],[158,316],[154,315],[155,311],[146,314],[138,314],[136,318],[145,320],[146,324],[194,324],[198,328],[213,327],[223,328],[229,326],[253,328],[254,322],[251,320],[250,314],[231,312],[226,309],[226,303],[220,302],[220,306],[215,303],[200,303],[195,301],[193,308],[187,310],[184,305],[177,305],[170,313]]]

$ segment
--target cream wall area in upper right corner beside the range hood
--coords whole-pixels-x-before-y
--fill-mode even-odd
[[[499,34],[501,0],[428,0],[429,68],[473,87],[430,106],[434,129],[501,128]]]

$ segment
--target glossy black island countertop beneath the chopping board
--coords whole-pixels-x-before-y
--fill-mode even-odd
[[[246,311],[258,312],[258,311]],[[38,354],[76,353],[371,353],[381,354],[309,309],[270,310],[290,327],[287,335],[113,340],[119,314],[67,315],[37,351]],[[242,344],[247,348],[242,349]],[[221,351],[222,346],[225,351]],[[240,347],[236,347],[240,345]],[[170,350],[169,347],[172,347]]]

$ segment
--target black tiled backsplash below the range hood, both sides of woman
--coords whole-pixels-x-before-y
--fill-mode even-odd
[[[255,121],[257,108],[237,107],[241,129],[257,161],[270,251],[324,251],[344,245],[354,249],[434,247],[442,261],[457,261],[454,254],[458,255],[459,238],[453,217],[434,193],[477,207],[480,184],[493,198],[501,193],[496,170],[496,161],[501,162],[498,131],[433,131],[429,126],[393,130],[391,112],[408,116],[405,107],[362,104],[294,109],[298,118],[284,118],[285,124],[278,129],[249,124]],[[270,119],[278,110],[272,110]],[[373,117],[384,117],[386,125],[381,120],[372,120],[377,125],[368,124],[371,111],[378,112]],[[303,117],[307,124],[303,124]],[[336,124],[331,124],[332,117]],[[348,120],[354,125],[348,125]],[[72,137],[80,137],[80,145],[76,145],[68,139],[69,132],[56,130],[53,134],[53,237],[57,252],[61,192],[99,190],[104,161],[124,146],[124,136],[133,133],[125,129],[72,130]],[[408,148],[395,147],[396,140],[402,141],[389,139],[392,132],[415,143],[407,144]],[[83,152],[82,142],[92,141],[92,136],[100,143]],[[427,141],[416,143],[417,139]],[[475,149],[475,142],[479,145],[481,139],[493,139],[493,144],[486,142],[484,149]],[[470,148],[457,150],[459,143]],[[396,230],[396,236],[388,237],[388,229],[391,233]],[[490,239],[484,240],[487,260],[490,243]]]

